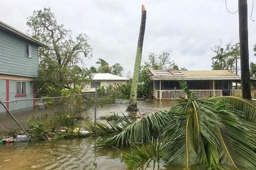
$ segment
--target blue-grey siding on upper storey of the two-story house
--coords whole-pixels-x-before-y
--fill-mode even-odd
[[[26,57],[26,44],[31,58]],[[38,75],[38,47],[0,29],[0,73],[36,78]]]

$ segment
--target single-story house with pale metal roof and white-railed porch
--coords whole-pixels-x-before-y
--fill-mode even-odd
[[[228,70],[150,70],[149,76],[154,84],[154,98],[159,100],[186,97],[179,81],[185,81],[200,98],[222,96],[222,90],[224,95],[242,96],[241,90],[233,88],[233,82],[241,82],[241,77]]]

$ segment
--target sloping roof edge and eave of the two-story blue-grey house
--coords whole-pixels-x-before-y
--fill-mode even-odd
[[[14,33],[14,35],[16,35],[18,37],[24,38],[28,41],[32,41],[33,43],[37,44],[39,47],[48,47],[46,44],[42,43],[41,41],[28,36],[26,33],[23,33],[15,28],[13,28],[10,25],[8,25],[2,21],[0,21],[0,28],[7,30],[9,32],[12,32],[12,33]]]

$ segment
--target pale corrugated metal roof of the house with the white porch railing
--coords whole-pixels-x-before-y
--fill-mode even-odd
[[[152,80],[240,80],[241,77],[228,70],[171,71],[150,70]]]

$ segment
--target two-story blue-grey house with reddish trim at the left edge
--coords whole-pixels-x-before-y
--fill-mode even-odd
[[[0,99],[33,98],[38,75],[38,47],[47,47],[0,21]],[[9,107],[9,104],[6,104]]]

